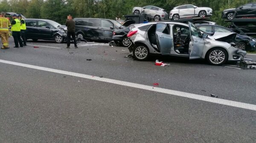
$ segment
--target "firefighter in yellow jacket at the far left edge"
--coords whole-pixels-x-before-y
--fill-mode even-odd
[[[3,47],[1,49],[9,48],[9,26],[11,26],[11,22],[9,19],[5,17],[5,13],[1,12],[0,17],[0,36],[2,39]]]

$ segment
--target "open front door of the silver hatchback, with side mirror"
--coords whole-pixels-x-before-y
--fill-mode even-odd
[[[189,22],[191,42],[189,44],[189,59],[200,59],[204,50],[204,39],[201,31]]]

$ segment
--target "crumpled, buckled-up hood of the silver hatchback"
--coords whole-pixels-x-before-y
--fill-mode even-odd
[[[212,36],[216,41],[222,42],[234,42],[236,40],[236,33],[224,33],[224,32],[215,32]]]

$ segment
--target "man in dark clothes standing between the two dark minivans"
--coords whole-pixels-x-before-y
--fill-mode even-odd
[[[72,17],[69,15],[67,16],[66,26],[67,26],[67,48],[70,48],[70,37],[72,36],[75,48],[77,48],[76,44],[76,22],[72,20]]]

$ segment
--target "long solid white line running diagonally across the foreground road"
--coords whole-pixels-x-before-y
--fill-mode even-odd
[[[108,82],[111,84],[123,85],[126,87],[134,87],[134,88],[154,91],[154,92],[158,92],[158,93],[176,95],[176,96],[180,96],[180,97],[186,97],[186,98],[196,99],[196,100],[200,100],[200,101],[207,101],[207,102],[212,102],[212,103],[217,103],[217,104],[238,107],[238,108],[243,108],[243,109],[250,109],[250,110],[256,111],[256,105],[254,105],[254,104],[247,104],[247,103],[242,103],[242,102],[237,102],[237,101],[212,98],[212,97],[207,97],[207,96],[203,96],[203,95],[185,93],[185,92],[181,92],[181,91],[169,90],[169,89],[164,89],[164,88],[159,88],[159,87],[153,88],[152,86],[143,85],[143,84],[119,81],[119,80],[115,80],[115,79],[100,78],[100,77],[85,75],[85,74],[81,74],[81,73],[73,73],[73,72],[69,72],[69,71],[65,71],[65,70],[56,70],[56,69],[52,69],[52,68],[39,67],[39,66],[35,66],[35,65],[11,62],[11,61],[1,60],[1,59],[0,59],[0,62],[5,63],[5,64],[17,65],[20,67],[28,67],[28,68],[32,68],[32,69],[36,69],[36,70],[43,70],[43,71],[48,71],[48,72],[52,72],[52,73],[60,73],[60,74],[76,76],[76,77],[80,77],[80,78],[84,78],[84,79],[92,79],[92,80],[96,80],[96,81]]]

